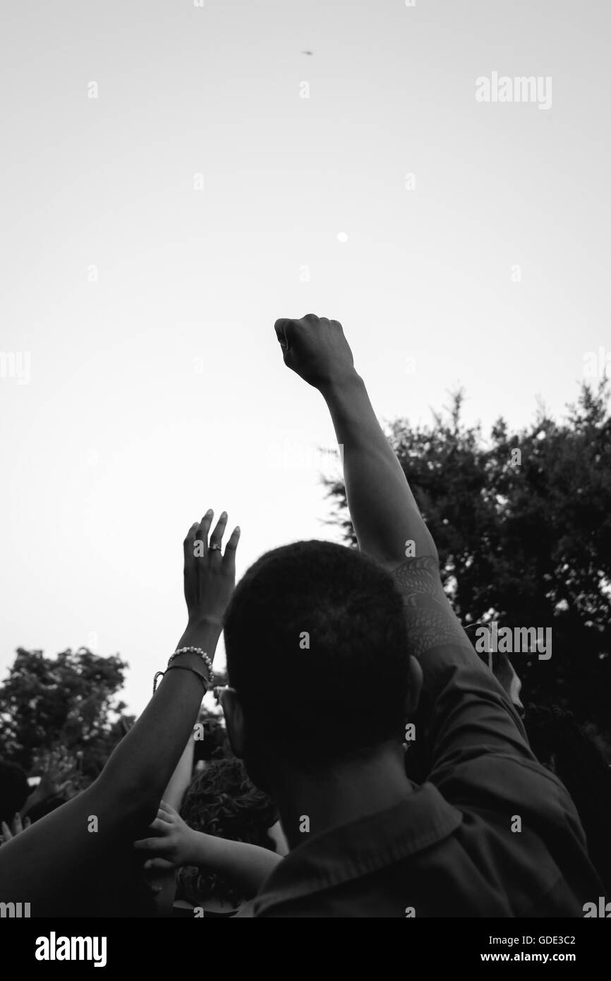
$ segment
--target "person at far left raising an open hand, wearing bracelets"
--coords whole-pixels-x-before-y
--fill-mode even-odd
[[[155,819],[213,684],[210,666],[235,582],[239,539],[236,528],[223,550],[227,520],[223,512],[211,533],[209,510],[189,529],[183,545],[188,619],[177,652],[100,776],[2,845],[0,902],[29,903],[32,917],[155,913],[133,842]]]

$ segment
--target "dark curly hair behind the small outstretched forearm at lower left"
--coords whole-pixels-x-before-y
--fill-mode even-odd
[[[268,831],[279,819],[278,808],[251,784],[239,759],[212,759],[195,773],[180,816],[194,831],[276,851]],[[243,899],[239,887],[223,876],[193,865],[178,870],[178,899],[202,905],[213,897],[233,905]]]

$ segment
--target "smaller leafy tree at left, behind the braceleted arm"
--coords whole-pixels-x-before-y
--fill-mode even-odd
[[[20,647],[0,686],[4,757],[40,774],[61,757],[63,776],[86,786],[133,721],[117,698],[126,668],[86,647],[55,658]]]

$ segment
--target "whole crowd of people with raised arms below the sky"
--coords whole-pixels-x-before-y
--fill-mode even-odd
[[[239,528],[184,540],[187,625],[90,786],[0,766],[0,902],[32,916],[583,916],[611,893],[611,773],[567,713],[483,658],[336,321],[285,365],[342,446],[358,549],[294,542],[235,586]],[[194,727],[225,632],[227,737]]]

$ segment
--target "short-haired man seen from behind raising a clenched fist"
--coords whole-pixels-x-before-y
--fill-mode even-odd
[[[575,806],[451,609],[341,325],[276,332],[327,401],[360,551],[274,549],[229,602],[229,739],[290,847],[255,916],[582,916],[601,884]],[[431,767],[415,786],[403,741],[421,689]]]

